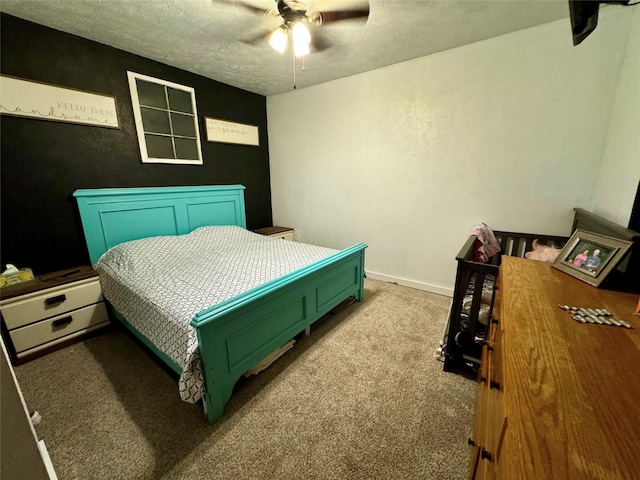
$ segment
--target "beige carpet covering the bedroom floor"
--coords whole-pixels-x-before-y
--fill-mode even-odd
[[[59,478],[466,478],[475,383],[433,355],[450,298],[365,287],[214,425],[118,329],[17,367]]]

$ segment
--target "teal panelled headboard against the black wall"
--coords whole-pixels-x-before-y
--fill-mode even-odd
[[[91,264],[129,240],[180,235],[207,225],[247,228],[243,185],[76,190]]]

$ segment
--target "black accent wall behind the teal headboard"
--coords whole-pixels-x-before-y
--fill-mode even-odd
[[[40,275],[89,263],[79,188],[242,184],[247,227],[271,225],[265,97],[10,15],[1,22],[3,75],[110,95],[120,121],[111,129],[0,117],[2,269]],[[195,89],[204,165],[141,162],[128,70]],[[257,125],[260,146],[207,142],[205,116]]]

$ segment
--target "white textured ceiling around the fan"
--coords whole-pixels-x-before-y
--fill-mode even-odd
[[[293,89],[294,62],[267,41],[280,24],[234,0],[1,0],[0,10],[261,95]],[[246,0],[272,9],[274,0]],[[362,5],[309,0],[310,11]],[[567,0],[369,0],[368,20],[318,27],[332,47],[296,60],[304,88],[567,18]]]

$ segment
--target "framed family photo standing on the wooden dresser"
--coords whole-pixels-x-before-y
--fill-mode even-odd
[[[583,282],[600,286],[624,258],[631,242],[585,230],[576,230],[553,266]]]

